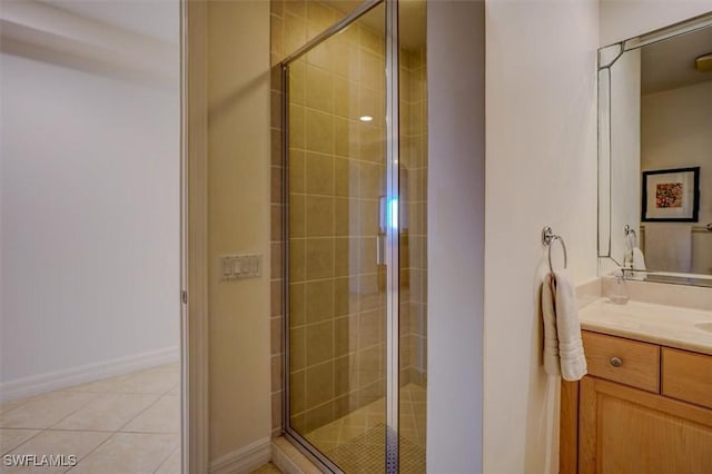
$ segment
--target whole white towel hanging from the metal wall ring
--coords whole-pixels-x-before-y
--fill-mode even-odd
[[[542,315],[544,369],[550,375],[561,374],[564,381],[580,381],[587,372],[586,357],[581,340],[576,292],[566,270],[555,271],[544,280]]]

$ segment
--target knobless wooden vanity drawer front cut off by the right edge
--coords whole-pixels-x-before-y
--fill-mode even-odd
[[[712,408],[712,356],[663,347],[663,395]]]

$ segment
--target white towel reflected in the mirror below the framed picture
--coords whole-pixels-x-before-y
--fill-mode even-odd
[[[692,269],[692,226],[645,224],[645,259],[651,270],[690,273]]]

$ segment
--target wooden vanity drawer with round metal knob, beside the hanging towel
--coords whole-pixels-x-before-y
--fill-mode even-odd
[[[660,393],[660,346],[587,330],[582,334],[589,374]]]

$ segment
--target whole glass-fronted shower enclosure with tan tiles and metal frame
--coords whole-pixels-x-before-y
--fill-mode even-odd
[[[389,0],[281,63],[285,432],[333,472],[425,472],[425,66]]]

